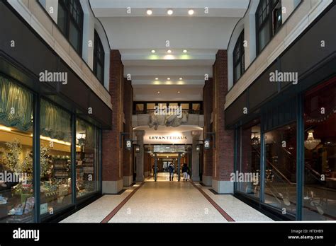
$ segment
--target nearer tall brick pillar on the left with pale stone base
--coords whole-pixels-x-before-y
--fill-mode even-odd
[[[116,194],[123,189],[123,152],[119,146],[123,131],[123,64],[118,50],[111,50],[110,81],[112,103],[112,129],[102,134],[103,193]]]

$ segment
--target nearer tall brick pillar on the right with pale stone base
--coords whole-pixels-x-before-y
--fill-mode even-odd
[[[213,189],[220,193],[233,193],[234,132],[225,129],[224,105],[228,93],[228,56],[226,50],[218,50],[213,64]]]

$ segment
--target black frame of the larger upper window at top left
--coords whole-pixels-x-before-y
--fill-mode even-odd
[[[61,33],[68,40],[69,44],[74,48],[74,50],[82,57],[83,52],[83,23],[84,23],[84,12],[79,0],[59,0],[58,6],[62,6],[65,10],[65,30],[60,28],[57,21],[57,26],[60,29]],[[77,7],[77,8],[75,8]],[[57,13],[57,20],[59,18]],[[74,18],[74,14],[77,14],[77,19]],[[78,49],[72,45],[70,42],[70,23],[74,25],[75,28],[79,31],[79,40],[78,40]]]

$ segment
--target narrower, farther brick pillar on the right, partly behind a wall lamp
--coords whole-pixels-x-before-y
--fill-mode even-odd
[[[204,128],[203,139],[206,139],[206,132],[211,129],[211,114],[213,112],[213,78],[209,78],[205,82],[203,88],[203,114],[204,114]],[[211,186],[213,179],[213,151],[203,150],[203,175],[202,182],[204,185]]]

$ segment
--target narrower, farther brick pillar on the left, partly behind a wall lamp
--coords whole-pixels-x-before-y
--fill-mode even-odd
[[[123,115],[125,119],[124,132],[129,132],[132,137],[132,114],[133,114],[133,87],[132,82],[124,78],[123,82]],[[123,185],[130,186],[133,183],[133,151],[123,148]]]

